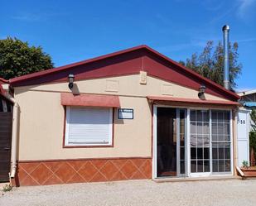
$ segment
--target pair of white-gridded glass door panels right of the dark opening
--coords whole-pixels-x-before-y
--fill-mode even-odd
[[[191,175],[230,174],[231,143],[230,111],[191,109]]]

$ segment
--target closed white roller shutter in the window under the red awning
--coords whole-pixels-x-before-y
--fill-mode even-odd
[[[67,107],[65,145],[111,145],[112,108]]]

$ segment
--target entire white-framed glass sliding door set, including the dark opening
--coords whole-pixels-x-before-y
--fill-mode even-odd
[[[156,177],[231,174],[230,110],[156,108]]]

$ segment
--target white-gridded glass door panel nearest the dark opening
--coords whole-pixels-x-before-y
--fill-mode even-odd
[[[191,110],[191,173],[210,172],[210,111]]]

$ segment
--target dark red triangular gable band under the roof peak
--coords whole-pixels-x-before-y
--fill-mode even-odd
[[[199,74],[191,72],[191,69],[184,69],[161,54],[157,55],[147,49],[132,50],[105,59],[89,60],[84,63],[42,71],[39,74],[28,74],[17,78],[23,79],[21,82],[11,79],[11,84],[14,87],[53,84],[66,82],[69,74],[74,74],[76,80],[88,80],[139,74],[140,71],[146,71],[152,77],[165,79],[186,88],[198,90],[204,84],[207,88],[206,93],[220,98],[229,98],[231,101],[237,100],[232,93],[200,77]]]

